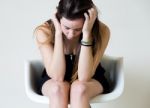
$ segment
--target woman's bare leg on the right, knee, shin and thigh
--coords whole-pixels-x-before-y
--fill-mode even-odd
[[[103,87],[94,79],[89,82],[76,80],[71,85],[71,108],[90,108],[90,99],[102,91]]]

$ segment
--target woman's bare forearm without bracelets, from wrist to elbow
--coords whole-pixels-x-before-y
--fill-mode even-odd
[[[54,75],[52,78],[63,81],[66,71],[65,55],[63,50],[64,48],[63,38],[61,36],[62,34],[56,35],[55,35],[54,53],[51,63],[51,71],[55,72],[57,75]]]

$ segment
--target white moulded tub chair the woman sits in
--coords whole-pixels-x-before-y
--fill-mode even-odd
[[[106,70],[105,76],[109,81],[111,91],[94,97],[90,101],[91,104],[114,100],[122,94],[124,89],[123,58],[105,55],[101,63]],[[37,93],[38,79],[43,68],[41,60],[25,61],[25,91],[32,101],[48,104],[48,98]]]

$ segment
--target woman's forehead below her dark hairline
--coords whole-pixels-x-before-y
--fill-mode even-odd
[[[75,20],[69,20],[69,19],[62,17],[60,22],[64,26],[75,29],[75,28],[82,28],[83,23],[84,23],[84,19],[79,18],[79,19],[75,19]]]

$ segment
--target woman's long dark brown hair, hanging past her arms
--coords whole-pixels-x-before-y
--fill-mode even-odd
[[[62,17],[65,17],[70,20],[74,20],[77,18],[84,18],[84,13],[87,12],[87,10],[92,7],[95,7],[92,0],[60,0],[57,7],[57,18],[58,20],[60,20]],[[54,44],[55,28],[51,20],[48,20],[47,22],[50,27],[47,26],[46,27],[47,30],[42,29],[48,36],[48,40],[46,41],[46,43]],[[39,27],[39,28],[43,28],[43,27]],[[52,32],[52,37],[50,37],[49,35],[48,28],[51,29],[50,31]],[[95,71],[100,61],[99,60],[100,48],[102,44],[102,39],[101,39],[102,37],[100,33],[100,21],[98,20],[98,17],[96,18],[92,28],[92,36],[94,40],[94,45],[92,47],[93,57],[94,57],[93,71]],[[77,70],[78,70],[79,54],[80,54],[80,49],[77,51],[77,55],[75,57],[71,82],[73,82],[78,78]]]

